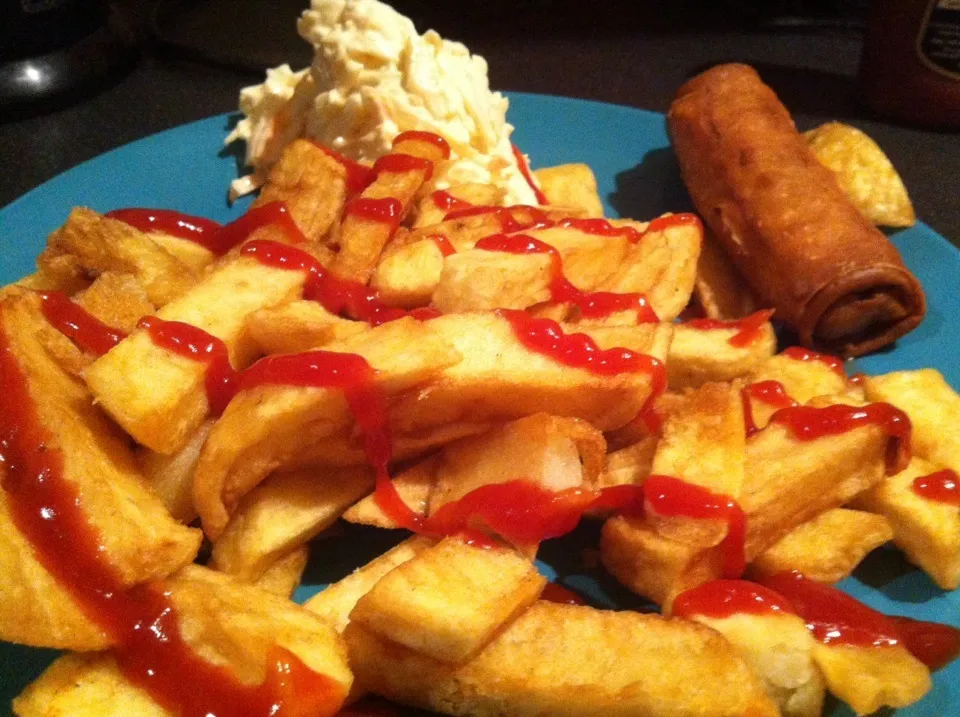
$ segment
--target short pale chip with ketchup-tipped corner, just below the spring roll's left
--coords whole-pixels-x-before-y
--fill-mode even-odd
[[[769,323],[760,337],[746,346],[730,344],[736,333],[736,329],[697,329],[677,324],[667,359],[670,388],[732,381],[756,370],[777,350],[777,338]]]

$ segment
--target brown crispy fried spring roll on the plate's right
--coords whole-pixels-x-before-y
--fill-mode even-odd
[[[700,215],[802,343],[859,356],[920,323],[920,283],[753,69],[721,65],[687,82],[669,128]]]

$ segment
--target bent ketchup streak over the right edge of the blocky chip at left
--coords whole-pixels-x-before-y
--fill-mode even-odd
[[[143,317],[137,328],[144,329],[157,346],[206,364],[204,386],[210,411],[215,416],[223,413],[236,393],[238,379],[223,341],[196,326],[180,321],[164,321],[156,316]]]

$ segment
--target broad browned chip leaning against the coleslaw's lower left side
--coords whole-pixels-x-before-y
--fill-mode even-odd
[[[273,165],[253,206],[284,202],[300,231],[317,244],[339,218],[346,199],[343,165],[313,142],[297,139]]]

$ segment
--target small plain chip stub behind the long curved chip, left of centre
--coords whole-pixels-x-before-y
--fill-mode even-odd
[[[250,338],[265,354],[309,351],[368,329],[362,321],[334,316],[317,302],[303,299],[260,309],[247,319]]]

